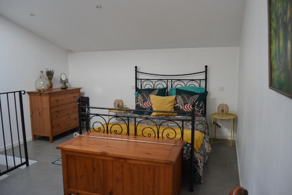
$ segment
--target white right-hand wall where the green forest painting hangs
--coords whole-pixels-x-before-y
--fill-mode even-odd
[[[239,47],[237,155],[248,194],[291,194],[292,99],[269,89],[267,1],[246,1]]]

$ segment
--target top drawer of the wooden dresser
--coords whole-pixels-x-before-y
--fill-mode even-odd
[[[65,103],[77,102],[78,97],[79,97],[79,92],[53,95],[51,96],[51,107],[65,104]]]

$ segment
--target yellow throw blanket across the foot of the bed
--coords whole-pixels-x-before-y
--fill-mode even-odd
[[[154,135],[154,131],[148,127],[154,129],[155,135]],[[99,131],[99,133],[103,133],[104,129],[106,132],[106,124],[103,124],[100,127],[95,127],[94,129],[95,129],[95,131],[98,131],[99,128],[101,129]],[[112,130],[111,130],[111,128],[112,128]],[[122,133],[121,133],[121,128],[123,130]],[[90,131],[95,132],[94,129],[91,129]],[[175,130],[175,132],[173,131],[173,129]],[[126,135],[127,134],[127,125],[125,123],[109,123],[108,130],[109,130],[109,133],[111,130],[112,134],[120,134],[121,133],[120,135]],[[116,130],[116,133],[115,133],[115,130]],[[164,132],[163,132],[163,130],[164,130]],[[142,131],[143,131],[143,134],[142,134]],[[159,138],[162,138],[162,132],[163,132],[163,137],[165,139],[167,139],[167,137],[169,137],[169,138],[175,137],[174,139],[180,139],[180,137],[181,137],[180,128],[173,128],[172,127],[172,129],[171,129],[170,127],[160,127]],[[176,136],[175,136],[175,133],[176,133]],[[130,134],[130,136],[135,136],[135,125],[129,124],[129,134]],[[138,134],[138,137],[143,137],[143,135],[145,137],[148,137],[149,135],[151,135],[150,137],[157,137],[157,127],[151,126],[151,125],[138,125],[137,134]],[[168,136],[167,136],[167,134],[168,134]],[[194,144],[195,152],[197,152],[199,150],[199,148],[202,144],[203,137],[204,137],[203,133],[195,130],[195,144]],[[191,144],[191,130],[184,129],[183,139],[187,143]]]

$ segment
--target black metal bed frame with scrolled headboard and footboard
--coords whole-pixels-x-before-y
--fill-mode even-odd
[[[173,78],[166,78],[166,79],[161,79],[161,78],[156,78],[156,79],[150,79],[150,78],[138,78],[138,73],[143,74],[143,75],[152,75],[152,76],[161,76],[161,77],[176,77],[176,76],[187,76],[187,75],[196,75],[196,74],[201,74],[205,73],[205,78],[204,79],[173,79]],[[205,71],[197,72],[197,73],[189,73],[189,74],[181,74],[181,75],[159,75],[159,74],[152,74],[152,73],[144,73],[140,72],[137,70],[137,66],[135,66],[135,91],[137,92],[137,86],[138,82],[140,82],[140,89],[145,89],[146,87],[148,88],[158,88],[158,87],[166,87],[166,91],[168,91],[168,84],[170,84],[171,87],[184,87],[184,86],[196,86],[201,87],[201,82],[204,82],[205,84],[205,91],[207,90],[207,65],[205,65]],[[118,109],[118,108],[102,108],[102,107],[92,107],[92,106],[81,106],[81,99],[77,98],[78,101],[78,116],[79,116],[79,133],[82,134],[82,126],[81,126],[81,115],[90,115],[88,122],[88,126],[91,120],[100,119],[102,122],[99,120],[95,121],[92,123],[92,129],[95,132],[101,132],[101,133],[107,133],[107,134],[122,134],[123,128],[119,123],[114,123],[111,127],[109,127],[110,121],[114,120],[114,118],[119,118],[120,123],[125,123],[127,129],[126,135],[129,135],[129,126],[130,126],[130,118],[134,119],[134,134],[135,136],[138,136],[137,133],[137,127],[140,125],[140,123],[144,120],[151,121],[155,124],[156,129],[153,129],[151,127],[146,127],[142,129],[142,136],[143,137],[157,137],[159,138],[159,132],[161,132],[161,138],[167,138],[167,139],[175,139],[176,137],[176,131],[172,127],[164,127],[162,126],[164,122],[174,122],[178,128],[180,128],[181,131],[181,137],[180,139],[183,140],[183,132],[184,132],[184,123],[186,121],[191,121],[191,158],[190,158],[190,169],[191,169],[191,177],[190,177],[190,192],[193,192],[193,183],[194,183],[194,130],[195,130],[195,105],[194,103],[192,104],[192,110],[190,112],[191,118],[190,119],[176,119],[176,118],[155,118],[155,117],[148,117],[148,116],[130,116],[130,115],[112,115],[112,114],[100,114],[100,113],[91,113],[91,112],[83,112],[82,110],[88,108],[91,109],[100,109],[100,110],[120,110],[120,111],[140,111],[140,110],[133,110],[133,109]],[[206,115],[206,103],[204,105],[204,113]],[[151,112],[162,112],[162,113],[186,113],[186,112],[171,112],[171,111],[151,111]],[[107,116],[111,117],[109,120],[107,120]],[[154,120],[161,120],[160,123],[155,122]],[[98,123],[100,126],[98,128],[94,127],[94,125]],[[181,125],[180,125],[180,124]],[[145,125],[143,125],[145,126]],[[119,128],[119,130],[116,129],[116,127]],[[163,129],[164,128],[164,129]],[[151,133],[147,133],[147,135],[144,134],[145,129],[150,129]],[[166,129],[171,129],[175,132],[174,137],[170,137],[168,133],[164,133]],[[153,134],[152,134],[153,132]],[[153,136],[154,135],[154,136]]]

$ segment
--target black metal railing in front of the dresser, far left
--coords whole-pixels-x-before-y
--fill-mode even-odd
[[[2,138],[3,140],[1,140],[0,137],[0,143],[3,141],[4,144],[4,154],[5,154],[5,159],[4,161],[6,162],[4,165],[4,167],[6,167],[5,170],[2,170],[0,168],[0,176],[4,175],[16,168],[19,168],[23,165],[28,166],[28,153],[27,153],[27,143],[26,143],[26,135],[25,135],[25,123],[24,123],[24,113],[23,113],[23,103],[22,103],[22,95],[25,94],[25,91],[15,91],[15,92],[6,92],[6,93],[0,93],[0,117],[1,117],[1,128],[2,128]],[[17,97],[18,96],[18,97]],[[9,100],[11,102],[11,100],[13,101],[14,99],[14,104],[13,103],[9,103]],[[5,100],[5,103],[3,103]],[[7,105],[5,105],[7,104]],[[15,108],[15,113],[14,113],[14,108]],[[19,124],[18,120],[20,116],[20,120],[21,120],[21,125]],[[6,119],[6,120],[5,120]],[[12,119],[15,119],[15,123],[11,123],[13,122]],[[13,124],[13,125],[11,125]],[[16,128],[15,128],[16,127]],[[21,129],[20,129],[21,128]],[[15,141],[15,137],[13,136],[13,134],[15,135],[17,131],[17,141]],[[24,148],[24,155],[25,155],[25,161],[22,160],[23,158],[23,154],[21,151],[21,140],[20,140],[20,132],[22,131],[22,139],[23,139],[23,148]],[[1,135],[1,133],[0,133]],[[12,156],[8,155],[8,148],[7,146],[9,144],[7,144],[8,140],[5,138],[8,137],[8,140],[11,141],[11,149],[12,149]],[[14,140],[13,140],[14,139]],[[16,143],[16,144],[15,144]],[[20,163],[18,163],[16,160],[18,160],[18,157],[15,156],[16,155],[16,151],[14,148],[14,145],[17,145],[19,147],[19,157],[20,157]],[[1,151],[1,154],[3,154],[3,151]],[[13,163],[12,165],[8,163],[8,158],[13,157]],[[1,157],[2,158],[2,157]]]

